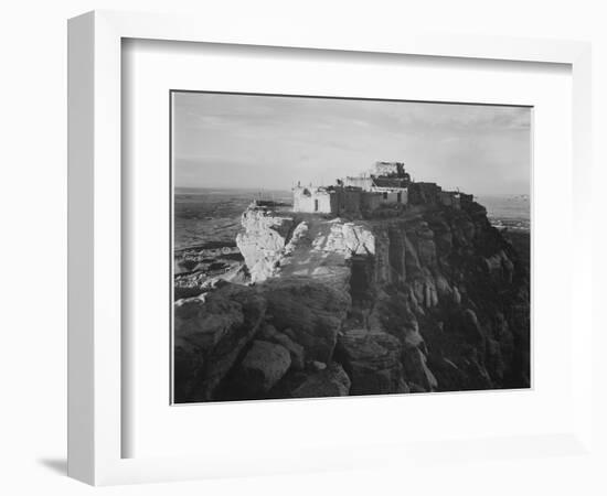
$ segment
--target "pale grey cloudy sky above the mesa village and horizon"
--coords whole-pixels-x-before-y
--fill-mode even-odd
[[[398,161],[415,181],[529,194],[525,107],[173,94],[177,187],[290,190]]]

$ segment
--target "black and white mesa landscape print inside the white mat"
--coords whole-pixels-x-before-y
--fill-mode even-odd
[[[532,117],[172,91],[172,402],[530,388]]]

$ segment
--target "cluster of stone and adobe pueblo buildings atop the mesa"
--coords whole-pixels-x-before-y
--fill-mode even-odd
[[[403,162],[375,162],[371,174],[347,176],[330,186],[302,186],[292,190],[292,209],[310,214],[372,213],[384,206],[445,205],[460,208],[472,195],[443,191],[436,183],[412,181]]]

